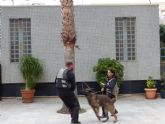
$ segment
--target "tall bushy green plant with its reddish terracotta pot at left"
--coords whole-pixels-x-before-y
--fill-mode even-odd
[[[20,59],[19,69],[25,80],[25,88],[21,90],[23,103],[31,103],[33,102],[36,81],[43,72],[42,64],[39,59],[24,55]]]

